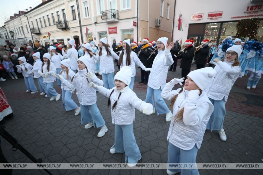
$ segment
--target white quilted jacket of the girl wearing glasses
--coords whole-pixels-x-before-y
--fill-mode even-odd
[[[219,61],[215,66],[216,74],[209,82],[206,88],[206,94],[213,100],[227,101],[228,95],[236,79],[238,78],[241,68],[239,66],[231,66],[234,63],[224,60]]]

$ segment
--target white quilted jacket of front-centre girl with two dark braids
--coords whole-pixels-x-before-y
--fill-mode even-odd
[[[135,120],[134,108],[142,112],[146,103],[139,99],[137,95],[128,86],[126,86],[122,89],[122,91],[125,92],[122,92],[117,105],[112,110],[112,105],[118,99],[120,92],[115,87],[112,89],[106,89],[102,86],[99,86],[98,89],[98,91],[106,97],[110,96],[112,90],[114,90],[110,97],[112,124],[115,123],[117,125],[130,125]]]

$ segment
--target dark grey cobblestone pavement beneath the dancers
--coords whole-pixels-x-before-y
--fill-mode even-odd
[[[181,76],[180,62],[176,72],[168,72],[167,81]],[[195,65],[192,65],[194,69]],[[117,67],[115,67],[117,68]],[[140,72],[139,68],[136,70]],[[226,103],[224,129],[228,137],[222,142],[217,132],[206,132],[198,151],[197,163],[263,163],[263,80],[256,89],[246,89],[248,76],[236,81]],[[136,74],[134,91],[145,100],[147,86],[138,84]],[[37,82],[35,81],[37,84]],[[62,100],[49,101],[37,94],[26,93],[23,79],[0,82],[14,117],[5,119],[6,130],[18,139],[43,163],[124,163],[124,154],[110,154],[114,144],[114,126],[107,98],[97,94],[97,106],[106,121],[109,131],[102,138],[96,135],[99,129],[84,129],[80,115],[62,108]],[[54,83],[57,92],[61,88]],[[76,94],[73,95],[75,102]],[[170,105],[170,102],[167,101]],[[169,124],[165,115],[156,113],[145,116],[136,110],[134,133],[142,158],[139,163],[167,162],[167,131]],[[13,152],[11,145],[1,138],[3,153],[10,163],[32,163],[19,150]],[[166,174],[166,170],[50,170],[53,174]],[[262,174],[262,170],[199,170],[200,174]],[[45,174],[44,170],[13,170],[13,174]]]

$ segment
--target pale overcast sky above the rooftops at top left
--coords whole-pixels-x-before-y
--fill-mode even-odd
[[[42,0],[1,0],[0,6],[0,27],[5,23],[5,17],[10,19],[18,11],[29,10],[29,7],[35,7],[40,4]]]

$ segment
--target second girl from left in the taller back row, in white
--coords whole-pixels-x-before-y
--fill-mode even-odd
[[[73,70],[73,72],[76,73],[76,70],[78,68],[77,59],[78,59],[78,51],[75,49],[75,40],[69,40],[68,41],[68,49],[67,52],[65,49],[62,49],[62,55],[64,59],[70,59],[70,68]]]

